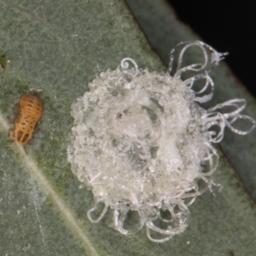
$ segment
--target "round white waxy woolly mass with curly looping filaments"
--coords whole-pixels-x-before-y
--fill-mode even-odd
[[[184,54],[192,47],[200,49],[203,61],[183,67]],[[98,223],[110,207],[116,230],[128,235],[145,225],[148,239],[155,242],[183,232],[189,206],[216,185],[212,173],[218,152],[212,144],[223,139],[225,127],[241,135],[255,128],[255,121],[241,114],[243,99],[208,110],[198,104],[212,98],[209,73],[226,54],[200,41],[177,48],[172,49],[167,73],[139,69],[125,58],[115,70],[96,77],[90,92],[72,105],[68,160],[96,200],[88,218]],[[185,73],[189,78],[182,78]],[[223,108],[231,110],[222,113]],[[236,129],[238,119],[250,122],[251,128]],[[98,204],[104,205],[100,214]],[[128,215],[137,223],[130,224]]]

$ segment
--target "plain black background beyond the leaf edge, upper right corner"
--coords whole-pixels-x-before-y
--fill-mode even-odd
[[[166,0],[204,42],[220,52],[234,74],[256,97],[256,9],[250,1]]]

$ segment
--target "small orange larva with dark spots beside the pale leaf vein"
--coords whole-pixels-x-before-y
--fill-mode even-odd
[[[32,141],[33,133],[44,112],[44,102],[36,92],[20,97],[19,108],[15,116],[15,129],[12,131],[15,143],[25,145]]]

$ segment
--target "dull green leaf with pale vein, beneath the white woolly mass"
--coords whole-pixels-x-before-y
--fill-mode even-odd
[[[160,6],[166,9],[164,3]],[[166,12],[172,20],[166,33],[166,38],[172,37],[169,49],[195,38],[170,9]],[[124,57],[133,58],[139,67],[166,70],[123,1],[0,0],[0,35],[1,55],[8,60],[0,71],[2,255],[253,255],[256,209],[223,156],[215,180],[224,189],[215,197],[209,192],[201,195],[190,207],[189,228],[171,241],[160,245],[148,241],[145,229],[120,235],[108,227],[112,211],[99,224],[88,220],[92,194],[80,188],[67,162],[71,104],[88,90],[96,74],[116,68]],[[232,83],[234,95],[249,102],[246,114],[256,116],[253,98],[245,96],[227,67],[218,67],[213,79],[216,102],[223,102],[230,91],[223,84]],[[28,90],[42,90],[45,111],[26,154],[8,142],[7,116],[13,116],[13,106]],[[227,152],[231,150],[228,159],[235,161],[237,170],[241,166],[249,170],[255,155],[255,146],[248,149],[253,134],[229,148],[231,136],[223,144]],[[242,165],[232,155],[247,158]]]

